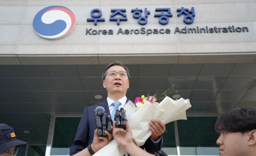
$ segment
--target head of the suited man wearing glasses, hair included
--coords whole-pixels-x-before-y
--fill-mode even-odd
[[[102,73],[103,87],[107,89],[108,96],[126,94],[129,88],[130,71],[120,61],[112,62],[106,66]]]

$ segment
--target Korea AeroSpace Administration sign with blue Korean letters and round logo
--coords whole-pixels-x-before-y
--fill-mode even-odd
[[[117,25],[121,24],[121,21],[128,21],[126,15],[126,9],[111,9],[112,14],[110,14],[109,21],[116,22]],[[143,12],[144,11],[144,12]],[[150,16],[150,10],[148,8],[135,8],[131,9],[132,17],[134,19],[138,19],[139,25],[146,25],[148,22],[148,16]],[[170,8],[155,8],[156,14],[154,14],[155,18],[159,18],[158,22],[161,25],[166,25],[169,22],[169,18],[172,18],[172,13]],[[177,8],[176,14],[178,17],[183,17],[183,22],[185,24],[192,24],[194,22],[195,8]],[[95,14],[98,13],[98,14]],[[92,9],[90,12],[92,18],[87,18],[87,22],[94,22],[94,26],[97,25],[98,22],[105,22],[105,18],[101,18],[102,11],[98,8]],[[117,16],[119,15],[119,16]],[[121,17],[120,17],[121,16]],[[75,26],[75,16],[73,12],[64,7],[64,6],[49,6],[42,10],[40,10],[33,20],[33,27],[36,33],[42,38],[54,40],[62,38],[68,35]],[[187,28],[187,26],[183,28],[176,27],[174,34],[187,34],[187,33],[227,33],[227,32],[248,32],[247,27],[216,27],[208,28],[208,26],[204,28]],[[165,29],[155,29],[155,28],[137,28],[137,29],[123,29],[119,28],[118,30],[95,30],[93,28],[86,28],[86,35],[112,35],[112,34],[123,34],[123,35],[132,35],[132,34],[171,34],[171,30],[168,28]]]

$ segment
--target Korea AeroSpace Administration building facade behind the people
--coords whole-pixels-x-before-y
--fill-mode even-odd
[[[188,120],[166,125],[168,154],[218,155],[217,116],[256,107],[255,8],[255,0],[0,0],[0,122],[28,142],[23,155],[68,155],[84,107],[107,97],[106,64],[120,60],[131,100],[173,85],[170,97],[190,99]]]

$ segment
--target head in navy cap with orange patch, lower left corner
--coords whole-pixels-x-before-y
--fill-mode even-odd
[[[27,143],[16,139],[12,127],[0,124],[0,156],[16,156],[18,149],[15,150],[15,147],[24,144]]]

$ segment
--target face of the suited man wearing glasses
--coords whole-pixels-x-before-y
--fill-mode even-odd
[[[103,87],[107,89],[108,93],[126,93],[127,89],[129,88],[129,80],[126,74],[125,77],[121,77],[118,72],[126,72],[126,70],[121,66],[112,66],[108,68],[108,72],[116,71],[116,76],[112,77],[109,74],[106,75],[105,80],[103,80]]]

